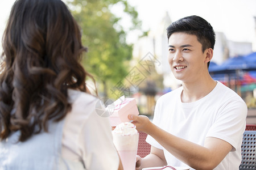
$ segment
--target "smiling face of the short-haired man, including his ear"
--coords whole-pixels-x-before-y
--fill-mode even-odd
[[[168,42],[168,60],[175,78],[183,82],[195,82],[207,71],[206,53],[195,35],[176,32]]]

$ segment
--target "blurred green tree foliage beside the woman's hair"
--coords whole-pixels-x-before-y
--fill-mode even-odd
[[[117,0],[73,0],[68,2],[73,16],[79,22],[82,31],[82,42],[88,47],[83,65],[100,82],[100,91],[104,96],[110,94],[109,89],[125,78],[132,57],[133,46],[127,44],[127,31],[119,24],[110,11],[110,7],[123,7],[125,14],[131,18],[128,31],[140,27],[138,13],[126,1]]]

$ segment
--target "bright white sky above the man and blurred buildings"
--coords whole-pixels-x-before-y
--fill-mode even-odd
[[[224,32],[228,40],[256,42],[256,0],[127,0],[138,11],[142,30],[154,29],[166,15],[172,22],[189,15],[206,19],[216,32]],[[0,38],[5,29],[14,0],[0,1]],[[65,0],[64,0],[65,2]],[[122,16],[118,9],[115,14]],[[127,23],[127,22],[123,22]],[[132,36],[131,36],[132,37]],[[130,41],[136,41],[133,37]],[[1,45],[2,46],[2,45]],[[1,48],[0,48],[1,49]]]

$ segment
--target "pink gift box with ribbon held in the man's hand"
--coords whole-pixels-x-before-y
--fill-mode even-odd
[[[122,122],[129,122],[128,114],[139,114],[136,100],[134,98],[120,97],[114,101],[114,111],[110,115],[110,125],[117,126]]]

